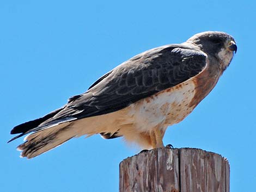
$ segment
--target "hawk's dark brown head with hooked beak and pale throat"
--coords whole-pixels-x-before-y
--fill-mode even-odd
[[[202,32],[193,35],[186,41],[199,47],[208,56],[215,57],[220,61],[224,71],[230,64],[237,46],[234,38],[224,32]]]

